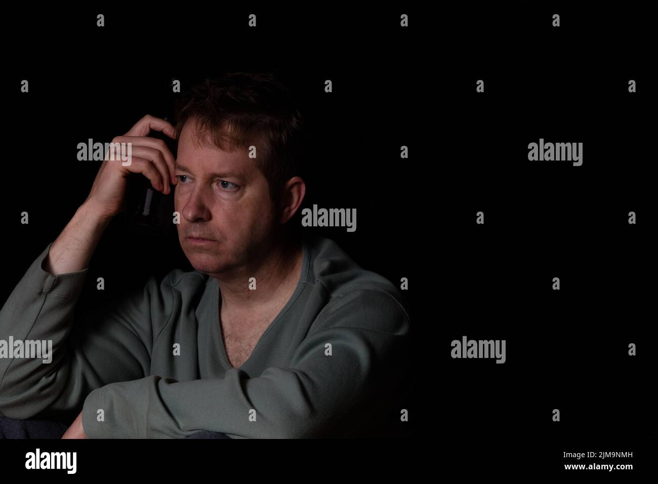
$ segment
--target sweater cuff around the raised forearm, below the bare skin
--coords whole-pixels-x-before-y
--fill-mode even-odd
[[[84,280],[89,272],[89,267],[85,267],[80,271],[58,275],[49,273],[43,267],[51,245],[53,245],[53,242],[48,244],[43,252],[32,262],[30,269],[24,275],[23,282],[28,284],[32,290],[41,294],[51,294],[52,296],[61,298],[79,296],[84,286]]]

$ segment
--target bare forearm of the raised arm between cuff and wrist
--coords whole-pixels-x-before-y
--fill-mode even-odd
[[[83,203],[50,246],[43,269],[53,275],[82,271],[89,265],[110,217]]]

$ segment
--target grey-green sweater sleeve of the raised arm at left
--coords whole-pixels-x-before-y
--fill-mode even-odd
[[[32,263],[0,312],[0,340],[11,337],[51,344],[51,361],[13,358],[13,348],[5,347],[9,353],[0,358],[3,416],[27,419],[70,412],[82,408],[93,389],[148,374],[151,312],[142,292],[149,290],[142,288],[118,305],[78,315],[76,303],[89,269],[57,276],[45,271],[51,244]],[[151,279],[147,287],[153,284]]]

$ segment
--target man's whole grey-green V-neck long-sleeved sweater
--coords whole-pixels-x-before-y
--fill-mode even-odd
[[[297,288],[238,368],[216,279],[174,269],[78,314],[89,268],[48,273],[50,246],[0,312],[0,415],[82,408],[89,439],[361,437],[399,425],[411,351],[403,296],[333,240],[305,234]],[[19,354],[28,340],[51,340],[51,362]]]

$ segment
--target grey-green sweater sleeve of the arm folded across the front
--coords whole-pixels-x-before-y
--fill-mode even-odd
[[[221,378],[113,383],[89,394],[83,427],[91,439],[176,439],[199,430],[237,438],[349,435],[371,406],[395,396],[394,380],[404,375],[396,369],[409,361],[408,333],[397,300],[359,290],[320,311],[288,367],[253,378],[233,368]]]

